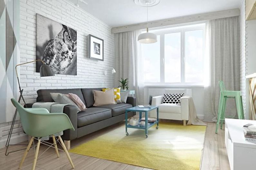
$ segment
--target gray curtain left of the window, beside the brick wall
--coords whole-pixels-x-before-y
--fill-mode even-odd
[[[144,103],[143,62],[137,37],[140,31],[115,33],[116,86],[120,78],[128,78],[129,90],[135,90],[137,104]]]

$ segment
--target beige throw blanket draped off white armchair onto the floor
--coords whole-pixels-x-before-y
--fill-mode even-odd
[[[192,97],[188,97],[188,107],[189,107],[189,118],[187,125],[203,125],[206,126],[206,124],[199,120],[196,116],[196,110],[195,110],[195,105]]]

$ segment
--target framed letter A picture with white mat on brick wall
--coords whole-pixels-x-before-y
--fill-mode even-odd
[[[104,40],[91,34],[87,36],[87,54],[89,58],[104,61]]]

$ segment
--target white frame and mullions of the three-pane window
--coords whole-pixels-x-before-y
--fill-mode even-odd
[[[179,28],[176,28],[179,27]],[[151,30],[150,32],[160,35],[160,82],[144,82],[145,86],[203,86],[203,82],[185,82],[185,31],[203,30],[203,63],[204,63],[204,42],[205,42],[205,22],[193,25],[176,26],[169,29]],[[165,34],[181,32],[181,82],[165,82]]]

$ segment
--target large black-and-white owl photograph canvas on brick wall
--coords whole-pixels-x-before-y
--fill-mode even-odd
[[[36,14],[36,59],[55,74],[77,75],[77,31]],[[36,63],[36,72],[41,65]]]

